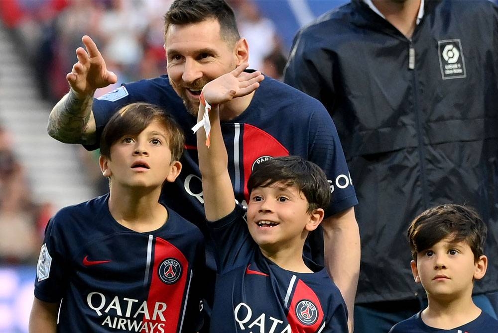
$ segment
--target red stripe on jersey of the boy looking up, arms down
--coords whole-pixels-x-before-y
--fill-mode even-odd
[[[176,259],[180,263],[182,270],[180,278],[172,284],[163,282],[158,273],[159,266],[167,258]],[[150,318],[146,319],[144,317],[143,322],[151,323],[152,325],[157,324],[157,326],[163,328],[164,332],[175,333],[179,330],[180,316],[183,315],[182,305],[185,298],[187,278],[189,276],[188,261],[185,255],[174,245],[157,237],[155,238],[153,260],[152,277],[150,279],[149,295],[147,298],[147,308]],[[154,309],[158,303],[166,304],[166,309],[162,312],[165,321],[162,321],[159,315],[155,319],[153,318]],[[160,304],[157,307],[159,310],[162,309]],[[150,327],[150,324],[148,325]],[[153,332],[161,332],[157,326]]]

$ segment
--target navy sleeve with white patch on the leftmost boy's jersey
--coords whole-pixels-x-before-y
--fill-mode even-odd
[[[49,303],[60,302],[67,284],[68,253],[62,242],[59,224],[57,215],[49,221],[36,265],[34,295]]]

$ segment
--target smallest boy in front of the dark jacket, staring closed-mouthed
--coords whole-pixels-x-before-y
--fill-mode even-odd
[[[498,321],[472,300],[474,280],[486,274],[487,227],[476,211],[460,205],[426,210],[408,228],[415,282],[428,306],[389,333],[491,333]]]

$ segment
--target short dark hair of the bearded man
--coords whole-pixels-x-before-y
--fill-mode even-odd
[[[175,0],[164,14],[164,39],[172,24],[186,25],[216,19],[221,37],[235,44],[240,38],[234,10],[224,0]]]

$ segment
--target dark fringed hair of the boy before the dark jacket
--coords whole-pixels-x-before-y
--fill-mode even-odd
[[[411,256],[427,250],[439,241],[451,237],[452,242],[466,242],[477,262],[484,254],[488,228],[472,208],[455,204],[430,208],[417,216],[408,228]]]

